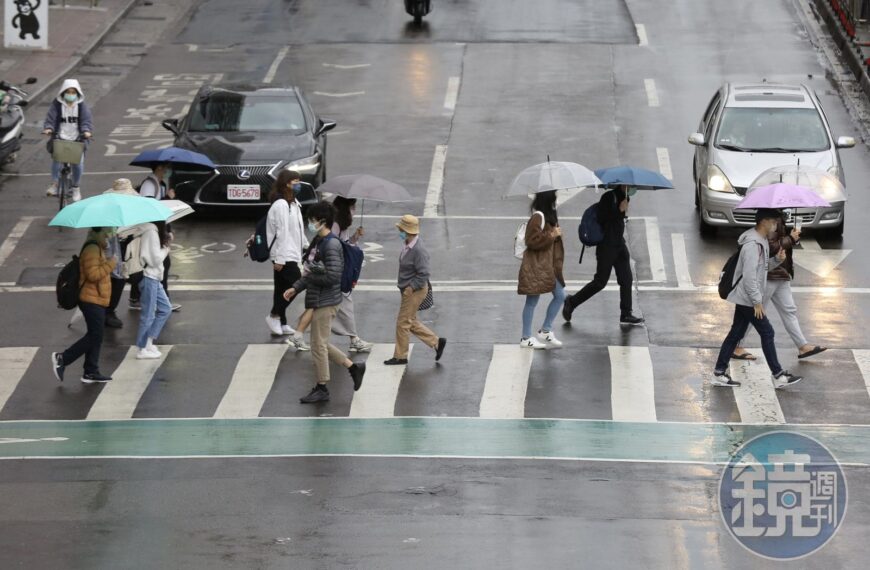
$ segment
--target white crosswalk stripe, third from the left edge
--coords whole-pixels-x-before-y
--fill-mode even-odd
[[[281,364],[287,345],[249,344],[236,364],[233,379],[221,398],[216,418],[256,418],[272,384],[275,373]]]

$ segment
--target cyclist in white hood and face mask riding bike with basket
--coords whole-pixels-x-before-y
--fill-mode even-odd
[[[85,96],[78,80],[67,79],[63,82],[57,98],[48,107],[48,114],[42,128],[42,134],[50,136],[52,141],[54,139],[85,141],[87,144],[88,139],[91,138],[91,133],[93,133],[94,124],[91,109],[85,103]],[[51,152],[50,145],[51,142],[49,142],[49,152]],[[70,199],[73,202],[82,199],[79,183],[82,179],[84,165],[84,155],[82,155],[79,164],[72,165],[73,187],[70,189]],[[46,190],[46,196],[57,196],[57,181],[60,178],[61,167],[59,162],[52,161],[51,186]]]

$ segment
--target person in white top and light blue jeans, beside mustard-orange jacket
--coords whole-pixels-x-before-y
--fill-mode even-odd
[[[163,356],[154,344],[163,326],[172,313],[169,297],[163,289],[163,260],[169,255],[172,241],[166,231],[166,222],[142,224],[140,257],[143,277],[139,283],[142,316],[139,319],[139,332],[136,335],[136,358],[150,359]]]

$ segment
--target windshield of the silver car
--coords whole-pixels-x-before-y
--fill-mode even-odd
[[[818,152],[831,143],[815,109],[728,107],[716,146],[741,152]]]

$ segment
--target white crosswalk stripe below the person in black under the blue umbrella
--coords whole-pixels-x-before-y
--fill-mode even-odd
[[[656,421],[652,358],[646,346],[608,346],[610,406],[618,422]]]

